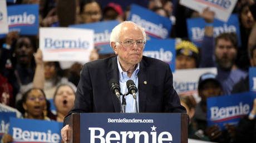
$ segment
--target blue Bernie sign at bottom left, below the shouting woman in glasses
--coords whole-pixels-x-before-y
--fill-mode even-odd
[[[13,142],[61,142],[62,122],[10,119],[9,134]]]

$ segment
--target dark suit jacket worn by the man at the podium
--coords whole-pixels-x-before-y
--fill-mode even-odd
[[[112,78],[119,81],[117,56],[86,63],[77,86],[75,106],[68,115],[120,113],[119,101],[109,86]],[[173,88],[173,74],[167,63],[143,57],[138,78],[140,113],[186,113]]]

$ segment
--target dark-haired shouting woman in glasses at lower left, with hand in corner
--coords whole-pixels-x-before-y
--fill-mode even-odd
[[[23,114],[23,118],[47,120],[47,100],[42,89],[32,88],[22,95],[22,99],[17,104],[17,109]],[[7,143],[13,140],[9,134],[4,134],[1,142]]]

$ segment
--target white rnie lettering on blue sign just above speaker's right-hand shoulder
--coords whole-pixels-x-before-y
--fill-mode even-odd
[[[170,51],[165,51],[163,48],[160,48],[159,51],[155,50],[155,51],[144,51],[143,55],[147,56],[147,57],[151,57],[151,58],[156,58],[156,59],[160,59],[163,60],[164,62],[171,62],[171,60],[173,60],[173,53],[171,53]]]

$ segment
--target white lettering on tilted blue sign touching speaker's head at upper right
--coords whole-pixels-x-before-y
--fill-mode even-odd
[[[136,14],[132,14],[131,21],[133,21],[138,25],[141,25],[141,27],[143,27],[146,32],[154,34],[157,37],[160,37],[162,39],[165,39],[168,37],[168,30],[166,28],[163,28],[163,24],[157,25],[155,23],[145,21],[144,19],[141,19],[140,16]]]

